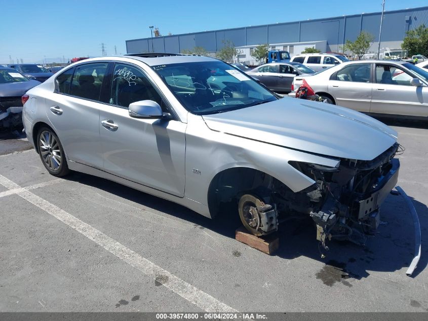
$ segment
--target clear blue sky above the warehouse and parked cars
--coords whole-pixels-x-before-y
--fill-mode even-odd
[[[283,5],[275,5],[275,4]],[[294,3],[294,5],[293,5]],[[386,0],[385,10],[428,5],[426,0]],[[381,0],[289,1],[131,1],[0,0],[0,63],[42,62],[126,53],[125,40],[276,22],[381,11]]]

